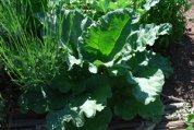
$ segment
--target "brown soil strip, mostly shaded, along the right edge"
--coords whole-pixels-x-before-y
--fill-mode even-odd
[[[190,0],[194,3],[194,0]],[[163,94],[194,103],[194,7],[187,11],[186,29],[180,44],[170,50],[173,74],[166,81]]]

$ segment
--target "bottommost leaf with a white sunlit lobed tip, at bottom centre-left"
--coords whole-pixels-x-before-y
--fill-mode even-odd
[[[66,130],[66,122],[70,121],[77,128],[83,127],[85,122],[84,115],[87,118],[94,118],[96,111],[101,111],[104,108],[105,106],[97,104],[95,99],[88,98],[81,106],[70,103],[64,109],[52,110],[47,115],[47,129]]]

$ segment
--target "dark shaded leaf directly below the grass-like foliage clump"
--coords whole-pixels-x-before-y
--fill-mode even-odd
[[[36,98],[35,98],[36,97]],[[24,111],[34,110],[44,114],[52,109],[60,109],[65,106],[65,96],[48,87],[29,90],[20,97],[20,105]]]

